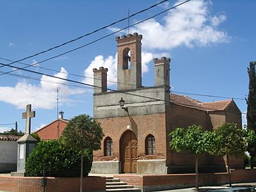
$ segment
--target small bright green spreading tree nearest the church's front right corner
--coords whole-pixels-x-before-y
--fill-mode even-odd
[[[196,191],[198,191],[198,160],[199,155],[209,152],[213,145],[215,145],[216,137],[214,132],[203,131],[199,125],[191,125],[188,129],[176,128],[170,132],[169,136],[172,138],[170,141],[170,148],[181,152],[189,150],[195,156],[195,172],[196,172]]]

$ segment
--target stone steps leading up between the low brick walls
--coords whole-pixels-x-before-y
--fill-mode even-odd
[[[106,191],[126,191],[126,192],[141,192],[141,189],[134,188],[134,186],[127,185],[127,183],[120,181],[118,178],[106,178]]]

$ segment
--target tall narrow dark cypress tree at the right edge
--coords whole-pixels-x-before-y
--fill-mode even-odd
[[[249,93],[246,99],[247,103],[247,128],[256,132],[256,62],[250,62],[250,67],[247,68],[249,76]],[[256,156],[256,145],[250,145],[248,152],[251,156],[251,168],[254,166],[254,157]]]

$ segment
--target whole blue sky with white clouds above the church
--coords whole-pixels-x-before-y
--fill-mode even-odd
[[[0,63],[9,64],[8,60],[17,61],[61,45],[127,17],[128,10],[132,15],[159,2],[1,0]],[[182,2],[170,0],[159,4],[131,17],[129,24]],[[92,69],[107,67],[108,88],[116,89],[115,36],[129,32],[143,35],[143,86],[154,86],[153,59],[166,56],[171,58],[172,93],[202,102],[234,98],[241,112],[246,113],[247,67],[250,61],[256,61],[255,7],[253,0],[191,0],[131,26],[129,31],[124,29],[110,35],[128,26],[124,20],[22,63],[13,63],[10,67],[0,65],[0,132],[15,128],[15,122],[19,130],[25,131],[22,112],[26,111],[26,104],[31,104],[36,111],[35,118],[31,119],[32,132],[56,120],[58,109],[64,111],[65,119],[80,114],[93,116],[93,88],[65,79],[93,84]],[[108,37],[102,38],[104,36]],[[68,53],[63,54],[65,52]],[[54,56],[58,57],[52,58]],[[49,58],[52,59],[47,60]],[[26,65],[35,65],[27,69],[62,80],[24,70],[3,74]],[[246,124],[246,115],[243,115],[243,124]]]

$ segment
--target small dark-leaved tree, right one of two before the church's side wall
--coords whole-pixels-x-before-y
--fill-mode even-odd
[[[218,145],[210,151],[217,156],[227,156],[227,171],[229,175],[229,186],[231,186],[231,175],[229,156],[241,157],[246,151],[246,141],[243,138],[243,130],[237,129],[236,124],[226,123],[214,130]]]

